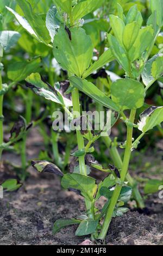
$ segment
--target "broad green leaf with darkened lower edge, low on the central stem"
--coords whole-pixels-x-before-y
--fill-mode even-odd
[[[82,195],[90,201],[93,200],[97,190],[95,179],[77,173],[65,174],[61,180],[61,186],[80,190]]]

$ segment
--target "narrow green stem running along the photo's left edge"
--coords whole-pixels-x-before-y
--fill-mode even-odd
[[[0,57],[1,64],[2,57]],[[2,72],[0,70],[0,90],[2,90]],[[0,144],[3,143],[3,95],[0,95]],[[0,161],[2,157],[2,149],[0,149]]]

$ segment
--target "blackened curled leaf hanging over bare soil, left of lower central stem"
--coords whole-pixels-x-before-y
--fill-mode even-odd
[[[54,173],[56,175],[64,176],[61,170],[54,163],[48,161],[32,161],[32,166],[40,173]]]

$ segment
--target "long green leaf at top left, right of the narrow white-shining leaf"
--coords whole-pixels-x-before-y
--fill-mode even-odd
[[[29,22],[30,26],[33,28],[37,37],[47,44],[51,42],[51,37],[49,36],[48,29],[46,28],[45,21],[39,14],[35,14],[29,2],[26,0],[16,0],[20,8],[22,9],[24,16]]]

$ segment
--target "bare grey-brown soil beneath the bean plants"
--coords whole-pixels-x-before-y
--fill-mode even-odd
[[[28,143],[30,144],[30,141]],[[34,143],[37,144],[36,141]],[[35,147],[29,147],[29,144],[28,156],[31,159],[35,157],[37,150]],[[39,142],[37,146],[39,147]],[[138,156],[133,159],[133,164],[137,161],[136,157]],[[19,162],[19,158],[12,154],[5,153],[4,159]],[[151,156],[146,156],[144,163],[146,164],[149,159],[151,162]],[[155,161],[157,160],[153,156],[153,162]],[[160,170],[160,158],[157,162],[157,168]],[[59,218],[71,218],[82,214],[82,197],[61,190],[57,176],[39,174],[32,168],[29,168],[29,172],[31,175],[20,190],[6,192],[4,198],[0,199],[0,245],[79,245],[86,237],[74,236],[76,225],[62,229],[56,235],[52,235],[52,227]],[[146,175],[144,170],[143,178]],[[160,176],[156,168],[153,176]],[[0,181],[13,177],[14,174],[10,173],[8,165],[4,165],[4,170],[0,170]],[[102,198],[99,204],[103,203]],[[158,198],[158,194],[154,194],[147,198],[146,206],[149,215],[129,211],[122,217],[114,218],[106,237],[106,244],[163,245],[163,200]]]

